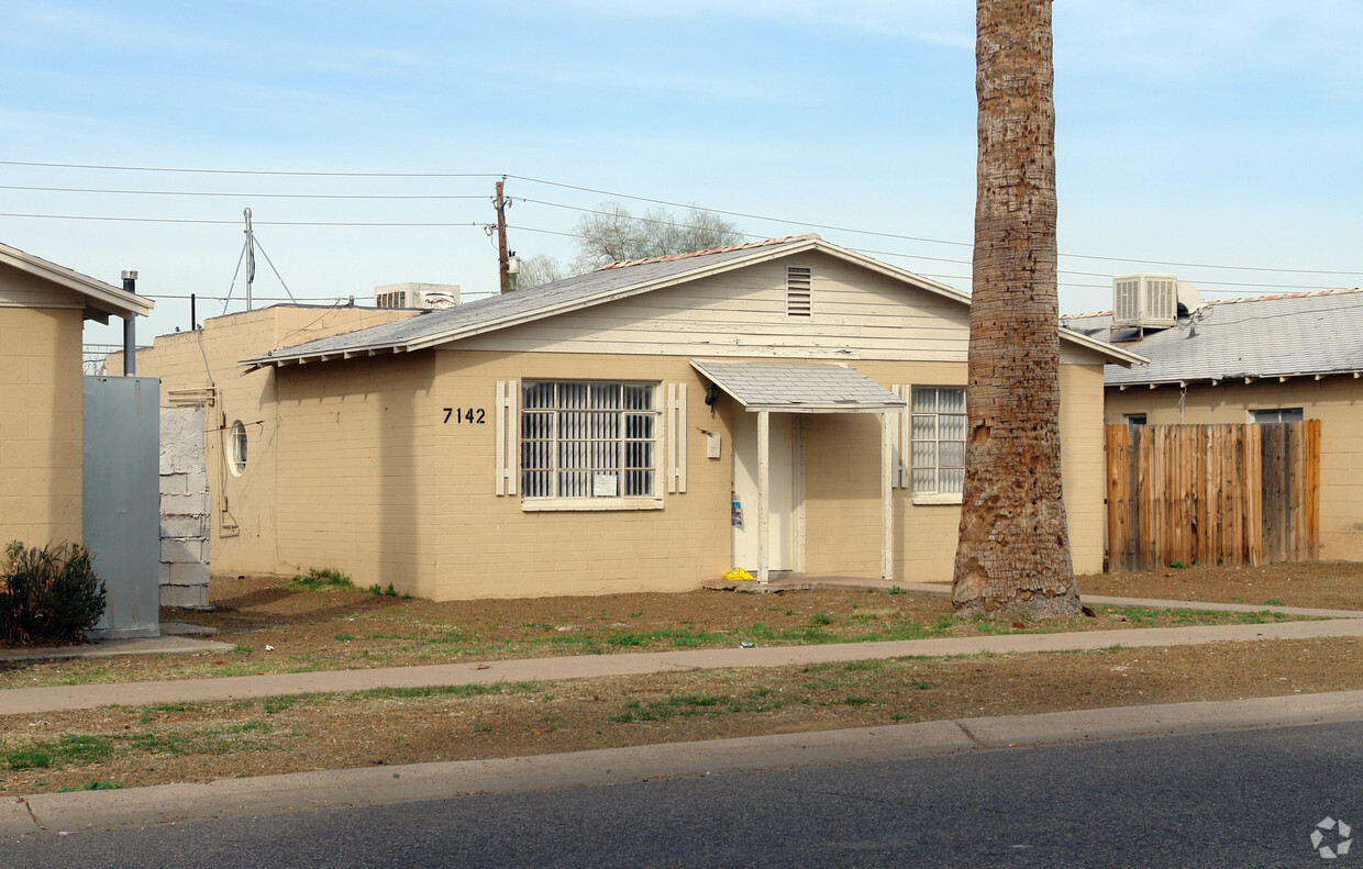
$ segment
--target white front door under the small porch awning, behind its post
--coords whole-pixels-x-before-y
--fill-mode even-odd
[[[733,432],[733,567],[758,575],[758,415],[739,410]],[[796,466],[795,426],[791,414],[770,415],[770,470],[767,473],[769,527],[767,569],[796,567]],[[741,519],[741,524],[740,524]]]

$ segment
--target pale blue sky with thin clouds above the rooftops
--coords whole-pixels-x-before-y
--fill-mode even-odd
[[[187,327],[189,293],[224,311],[248,206],[300,300],[489,293],[502,174],[522,256],[571,259],[581,208],[637,196],[776,218],[731,218],[752,237],[823,225],[969,289],[970,4],[5,5],[0,241],[138,268],[142,339]],[[1109,306],[1124,271],[1213,298],[1363,283],[1360,4],[1054,10],[1062,311]],[[15,189],[38,187],[68,189]],[[284,296],[264,263],[255,294]]]

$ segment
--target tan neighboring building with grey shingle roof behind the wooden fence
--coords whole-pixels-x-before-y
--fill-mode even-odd
[[[1150,360],[1107,366],[1107,422],[1319,420],[1321,557],[1363,558],[1363,290],[1210,304],[1184,294],[1169,313],[1168,324],[1118,331],[1111,311],[1065,317]]]

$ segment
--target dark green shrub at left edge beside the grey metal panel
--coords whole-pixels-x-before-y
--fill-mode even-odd
[[[104,616],[104,582],[94,575],[90,550],[79,543],[26,549],[5,546],[0,573],[0,642],[16,646],[80,643]]]

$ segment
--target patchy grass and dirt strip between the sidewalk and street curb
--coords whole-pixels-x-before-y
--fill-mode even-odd
[[[815,610],[816,612],[816,610]],[[804,614],[808,618],[808,613]],[[975,654],[0,715],[11,794],[1363,688],[1353,637]]]

